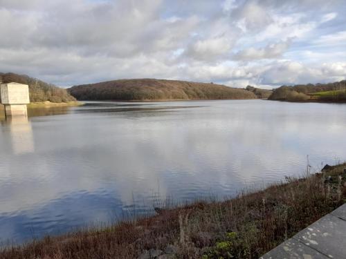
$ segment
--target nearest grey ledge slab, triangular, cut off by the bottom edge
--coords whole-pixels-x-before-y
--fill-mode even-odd
[[[260,259],[327,259],[327,256],[307,247],[298,240],[289,239],[275,249],[266,253]]]

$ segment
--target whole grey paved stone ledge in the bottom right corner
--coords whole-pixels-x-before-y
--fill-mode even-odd
[[[260,259],[346,259],[346,204]]]

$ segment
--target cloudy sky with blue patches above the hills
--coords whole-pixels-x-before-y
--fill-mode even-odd
[[[344,0],[0,0],[0,71],[274,88],[346,79]]]

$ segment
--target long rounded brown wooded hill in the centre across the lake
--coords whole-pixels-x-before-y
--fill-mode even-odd
[[[217,84],[158,79],[122,79],[69,88],[78,100],[255,99],[248,90]]]

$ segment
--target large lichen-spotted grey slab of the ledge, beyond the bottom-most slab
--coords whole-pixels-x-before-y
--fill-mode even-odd
[[[325,215],[293,236],[293,239],[329,258],[346,258],[346,221],[335,215]]]

